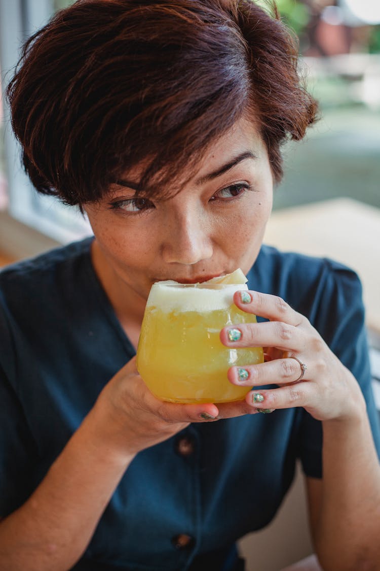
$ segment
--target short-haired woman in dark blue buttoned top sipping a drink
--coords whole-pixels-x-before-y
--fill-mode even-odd
[[[316,114],[296,65],[248,0],[80,1],[24,48],[24,166],[95,239],[1,275],[1,570],[242,568],[235,541],[272,519],[297,458],[322,567],[378,568],[358,279],[261,244],[281,143]],[[254,391],[158,401],[134,359],[150,287],[237,267],[250,296],[234,301],[261,323],[220,339],[268,348],[228,371]]]

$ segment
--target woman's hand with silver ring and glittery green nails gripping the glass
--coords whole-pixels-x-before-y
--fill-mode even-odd
[[[229,325],[220,332],[220,340],[227,347],[264,347],[265,362],[231,367],[228,379],[240,387],[279,385],[250,391],[245,407],[248,404],[266,412],[303,407],[317,420],[347,419],[362,414],[365,401],[356,379],[330,351],[308,319],[280,297],[255,291],[244,293],[249,293],[251,301],[243,303],[240,292],[236,292],[235,304],[242,311],[269,321]],[[231,329],[235,330],[232,335]],[[239,339],[231,340],[236,337]],[[218,405],[218,408],[220,416],[230,416],[234,404]]]

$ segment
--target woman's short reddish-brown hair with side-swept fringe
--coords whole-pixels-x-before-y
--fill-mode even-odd
[[[79,205],[143,162],[144,191],[173,183],[243,114],[279,182],[317,108],[295,38],[252,0],[79,0],[28,39],[7,95],[32,183]]]

